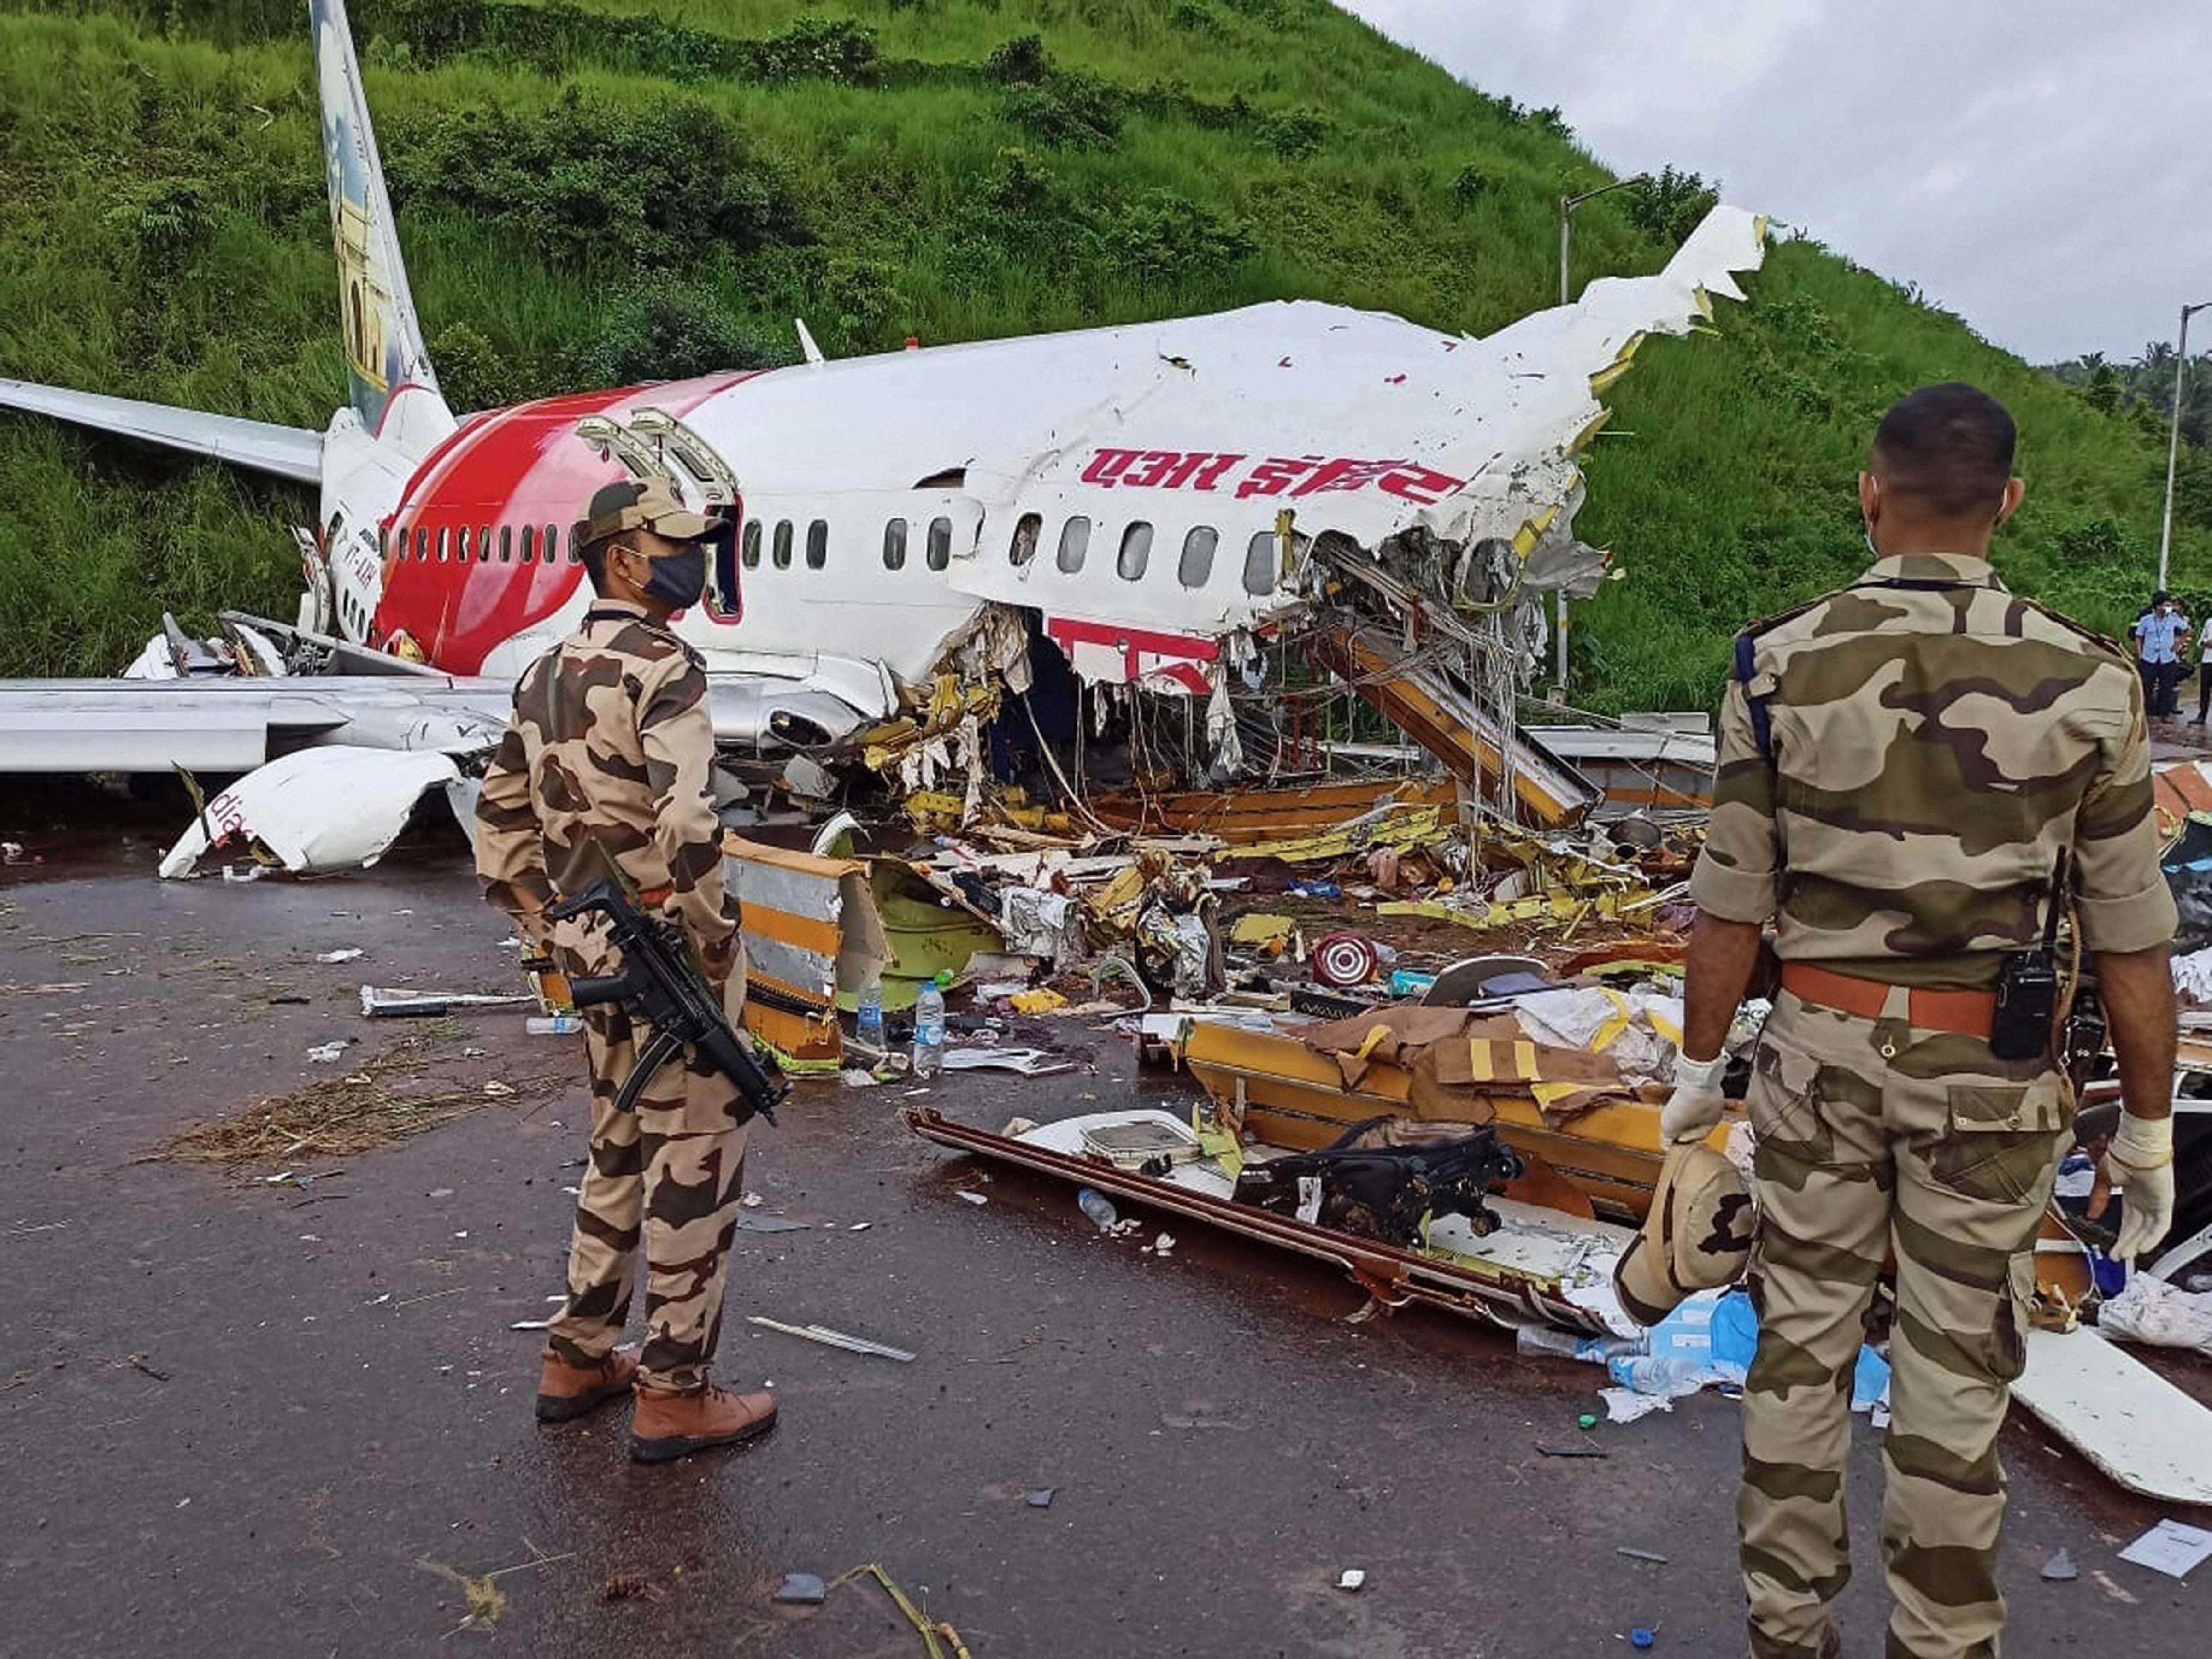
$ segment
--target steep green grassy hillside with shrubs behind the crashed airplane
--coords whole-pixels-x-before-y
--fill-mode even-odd
[[[830,352],[1283,296],[1480,334],[1551,301],[1555,201],[1608,177],[1555,111],[1321,0],[358,0],[354,27],[456,407],[787,361],[792,316]],[[0,374],[307,427],[341,403],[301,0],[0,11]],[[1577,283],[1690,221],[1590,204]],[[1719,321],[1615,392],[1579,529],[1626,577],[1579,611],[1577,701],[1712,701],[1743,617],[1863,562],[1865,438],[1927,380],[2020,416],[2013,582],[2132,615],[2157,422],[1812,241]],[[0,418],[0,675],[113,672],[164,606],[290,615],[310,513]],[[2212,524],[2177,571],[2212,582]]]

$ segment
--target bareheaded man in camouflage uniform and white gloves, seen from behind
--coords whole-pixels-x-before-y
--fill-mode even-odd
[[[2141,681],[1989,566],[2020,504],[2011,465],[2013,422],[1973,387],[1896,405],[1860,478],[1874,568],[1754,626],[1721,714],[1663,1128],[1719,1121],[1721,1044],[1772,918],[1783,989],[1747,1097],[1761,1336],[1736,1506],[1754,1659],[1840,1652],[1851,1367],[1891,1254],[1885,1652],[1997,1655],[1995,1438],[2073,1099],[2048,1055],[2000,1060],[1989,1037],[2000,967],[2039,945],[2062,854],[2121,1064],[2119,1250],[2172,1219],[2174,905]]]

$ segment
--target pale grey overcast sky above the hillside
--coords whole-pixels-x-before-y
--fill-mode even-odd
[[[1615,173],[1717,177],[2033,363],[2135,356],[2212,301],[2205,0],[1345,4],[1557,104]]]

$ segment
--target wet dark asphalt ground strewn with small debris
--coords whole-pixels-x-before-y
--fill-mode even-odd
[[[754,1137],[754,1214],[816,1223],[739,1239],[721,1374],[774,1383],[768,1442],[641,1469],[624,1409],[538,1427],[540,1338],[509,1325],[562,1285],[568,1042],[520,1011],[440,1026],[431,1082],[568,1082],[361,1157],[146,1157],[327,1075],[310,1046],[354,1068],[405,1037],[358,1015],[365,980],[513,989],[458,849],[250,887],[157,883],[153,852],[0,872],[0,1652],[922,1655],[874,1582],[772,1601],[867,1562],[975,1659],[1553,1659],[1632,1626],[1743,1652],[1732,1402],[1584,1433],[1595,1369],[1447,1316],[1347,1325],[1347,1283],[1181,1221],[1166,1259],[1139,1252],[1157,1225],[1102,1239],[1068,1188],[911,1139],[898,1088],[803,1086]],[[365,956],[314,960],[341,947]],[[931,1099],[995,1126],[1175,1088],[1057,1031],[1095,1075]],[[254,1179],[281,1168],[316,1179]],[[2157,1506],[2017,1416],[2006,1460],[2008,1655],[2205,1650],[2212,1566],[2115,1559]],[[1860,1422],[1847,1655],[1880,1652],[1878,1478]],[[2077,1582],[2037,1577],[2057,1548]]]

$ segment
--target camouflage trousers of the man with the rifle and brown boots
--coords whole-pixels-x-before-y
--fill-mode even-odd
[[[743,1000],[743,967],[734,1009]],[[646,1254],[646,1347],[639,1387],[706,1387],[721,1340],[721,1298],[730,1276],[745,1194],[745,1124],[732,1115],[728,1079],[681,1057],[661,1066],[637,1102],[615,1110],[615,1095],[641,1046],[619,1006],[584,1011],[591,1060],[591,1161],[577,1183],[575,1237],[568,1243],[568,1301],[546,1327],[555,1354],[577,1365],[599,1360],[622,1340]]]

